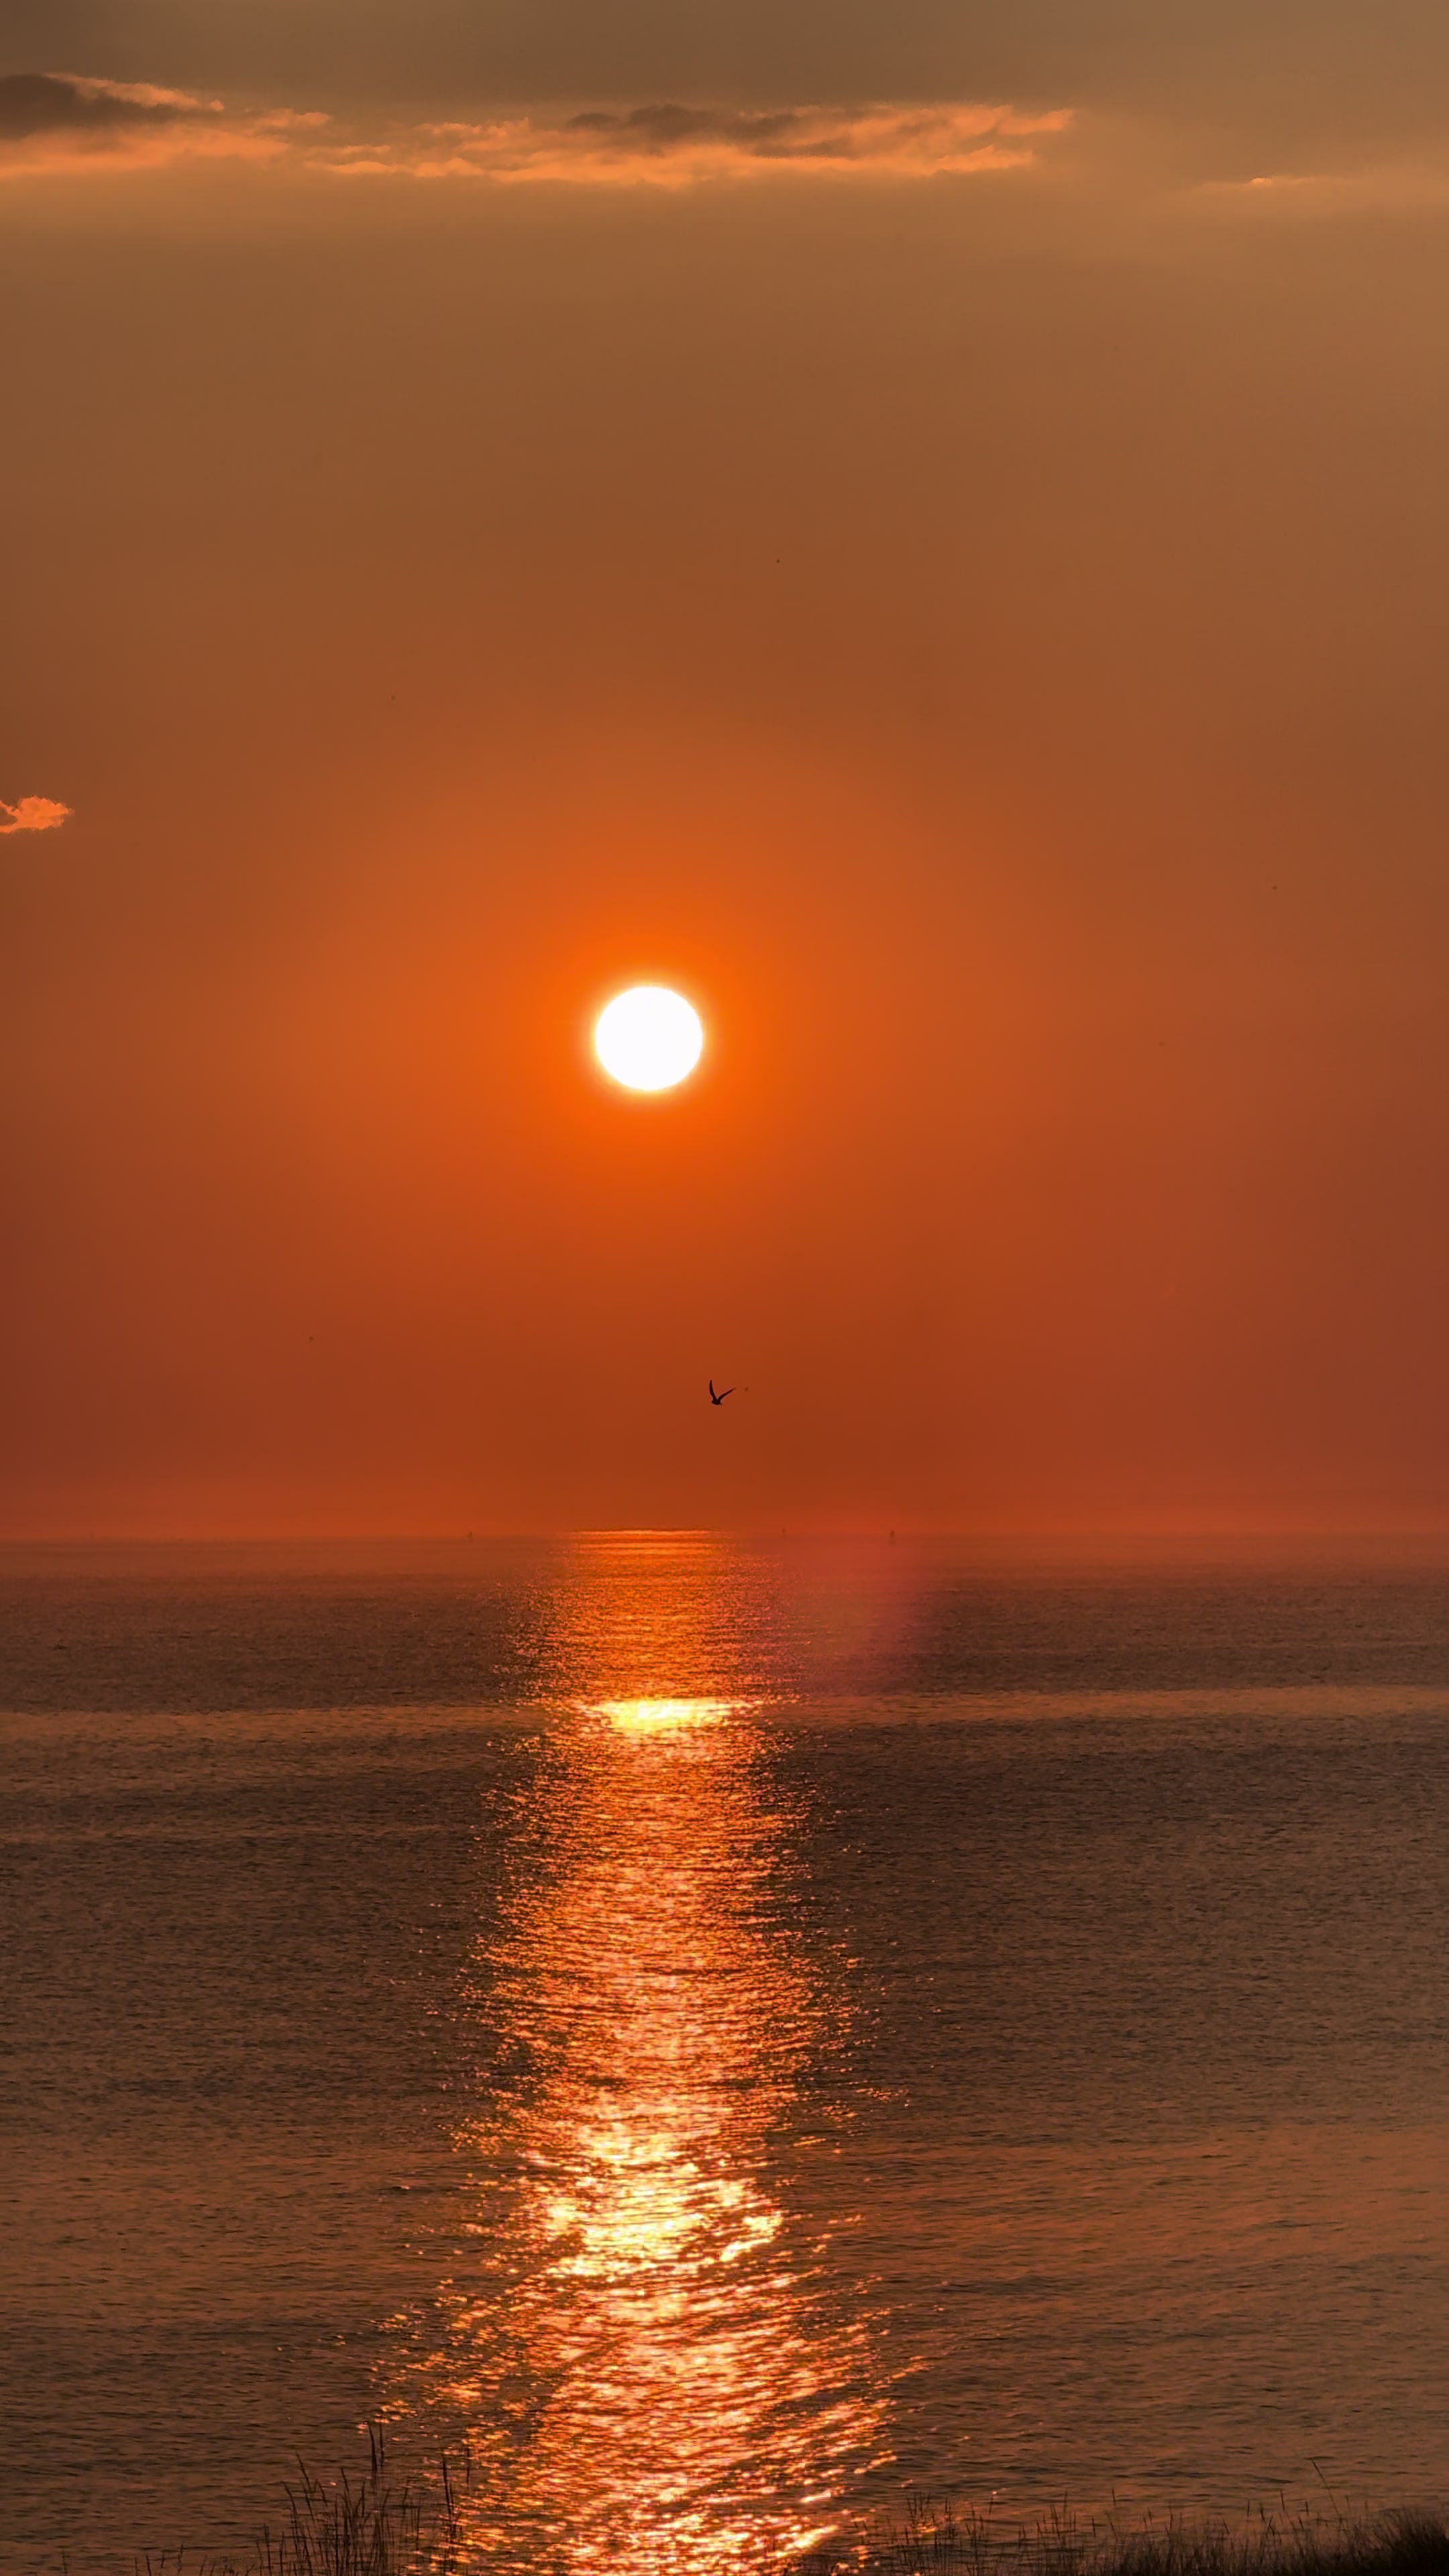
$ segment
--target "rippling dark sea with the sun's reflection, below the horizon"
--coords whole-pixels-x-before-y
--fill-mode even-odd
[[[1449,1571],[0,1556],[0,2563],[1449,2501]]]

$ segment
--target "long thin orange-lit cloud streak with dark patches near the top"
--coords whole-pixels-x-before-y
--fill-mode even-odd
[[[343,129],[320,111],[237,113],[219,98],[72,72],[0,77],[0,170],[103,170],[232,155],[294,160],[348,178],[472,178],[495,183],[691,185],[709,178],[802,175],[933,178],[1021,170],[1070,108],[1021,111],[980,100],[928,106],[722,108],[660,100],[578,108],[570,116],[500,116]]]

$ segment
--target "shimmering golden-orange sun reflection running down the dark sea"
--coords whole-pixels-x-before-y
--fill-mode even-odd
[[[794,1821],[724,1695],[552,1710],[503,1819],[467,2251],[392,2409],[467,2429],[469,2566],[779,2566],[882,2460]]]

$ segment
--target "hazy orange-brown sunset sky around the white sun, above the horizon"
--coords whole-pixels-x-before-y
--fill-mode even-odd
[[[8,0],[0,1530],[1449,1525],[1446,75]]]

